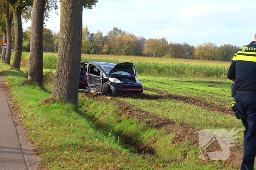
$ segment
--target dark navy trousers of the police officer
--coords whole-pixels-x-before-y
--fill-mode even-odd
[[[241,119],[245,127],[241,170],[253,170],[256,157],[256,94],[238,93],[234,100],[239,114],[248,116],[247,120]]]

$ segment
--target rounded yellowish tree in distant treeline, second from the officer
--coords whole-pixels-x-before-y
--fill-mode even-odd
[[[195,57],[200,60],[218,60],[217,49],[215,43],[200,44],[195,50]]]

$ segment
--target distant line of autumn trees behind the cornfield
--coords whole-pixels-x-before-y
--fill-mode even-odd
[[[23,32],[23,51],[30,50],[30,29],[28,27]],[[57,52],[59,33],[52,32],[48,28],[44,28],[43,32],[44,52]],[[165,38],[147,40],[143,36],[137,37],[118,28],[113,28],[105,36],[100,31],[91,33],[87,26],[83,28],[82,32],[82,54],[230,61],[240,48],[231,44],[223,44],[218,47],[211,42],[194,47],[186,42],[168,42]]]

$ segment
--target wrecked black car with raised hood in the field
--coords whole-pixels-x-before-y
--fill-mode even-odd
[[[80,62],[79,91],[122,96],[142,94],[143,87],[133,63]]]

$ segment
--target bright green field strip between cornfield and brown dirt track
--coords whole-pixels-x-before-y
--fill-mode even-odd
[[[154,88],[173,95],[200,99],[230,108],[231,81],[227,79],[139,76],[145,88]]]

